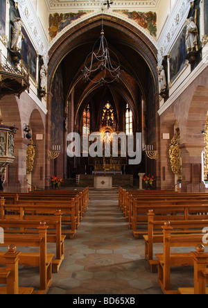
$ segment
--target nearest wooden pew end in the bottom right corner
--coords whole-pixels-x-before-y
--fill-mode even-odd
[[[194,288],[179,288],[182,295],[205,295],[208,294],[208,253],[205,253],[205,246],[199,244],[196,251],[191,253],[194,262]]]

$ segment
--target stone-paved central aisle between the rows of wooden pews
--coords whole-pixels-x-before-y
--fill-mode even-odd
[[[89,191],[89,208],[49,294],[161,293],[157,274],[144,260],[144,241],[135,240],[119,208],[119,191]]]

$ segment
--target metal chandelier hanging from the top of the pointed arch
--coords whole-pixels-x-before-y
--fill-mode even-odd
[[[112,60],[112,56],[114,60]],[[113,83],[121,78],[121,64],[117,55],[107,46],[107,40],[103,30],[103,8],[102,8],[102,31],[101,37],[96,41],[92,52],[85,59],[85,68],[82,70],[85,82]]]

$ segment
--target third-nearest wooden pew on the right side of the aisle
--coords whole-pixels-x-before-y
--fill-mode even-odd
[[[160,216],[155,216],[153,210],[148,212],[148,235],[144,235],[145,257],[153,273],[157,272],[158,259],[153,259],[154,243],[163,243],[162,225],[170,218],[161,220]],[[202,233],[202,229],[208,226],[208,220],[196,221],[169,221],[174,228],[174,234],[193,234]]]

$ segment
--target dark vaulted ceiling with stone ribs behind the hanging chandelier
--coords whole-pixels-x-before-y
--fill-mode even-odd
[[[62,67],[64,80],[64,100],[74,92],[75,123],[79,127],[83,109],[88,103],[94,108],[94,114],[100,114],[106,100],[110,100],[119,119],[121,109],[128,103],[133,111],[135,127],[141,129],[141,97],[148,104],[150,96],[157,92],[157,49],[146,40],[138,29],[130,25],[121,25],[121,21],[112,22],[109,16],[103,15],[105,38],[109,48],[116,53],[121,63],[121,80],[110,85],[85,82],[83,68],[85,58],[92,51],[94,43],[101,35],[101,19],[85,21],[79,28],[65,33],[58,40],[49,55],[49,84],[59,65]],[[151,92],[151,94],[150,94]],[[122,125],[122,119],[119,123]],[[94,117],[94,128],[99,126],[98,117]]]

